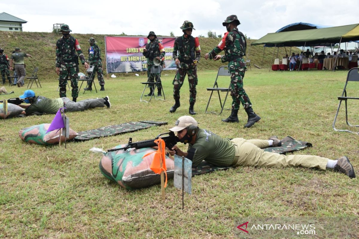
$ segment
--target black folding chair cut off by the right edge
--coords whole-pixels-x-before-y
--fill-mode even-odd
[[[359,97],[348,97],[347,96],[347,92],[346,92],[346,87],[348,86],[348,82],[349,81],[356,81],[356,82],[359,82],[359,68],[351,68],[348,72],[348,76],[346,77],[346,82],[345,82],[345,85],[344,85],[344,90],[343,90],[343,93],[341,94],[341,96],[338,97],[338,100],[339,100],[339,106],[338,106],[338,109],[337,109],[337,112],[335,114],[335,118],[334,118],[334,121],[333,121],[333,129],[335,131],[340,131],[340,132],[349,132],[349,133],[354,133],[354,134],[359,134],[359,132],[352,132],[350,130],[347,130],[347,129],[336,129],[335,128],[335,121],[337,119],[337,116],[338,116],[338,113],[339,113],[339,109],[340,109],[340,105],[341,105],[341,101],[345,101],[345,121],[346,121],[346,124],[351,126],[351,127],[359,127],[359,125],[352,125],[348,122],[348,105],[346,103],[346,101],[348,100],[359,100]],[[352,85],[352,84],[350,84]],[[358,115],[358,114],[356,114]]]

